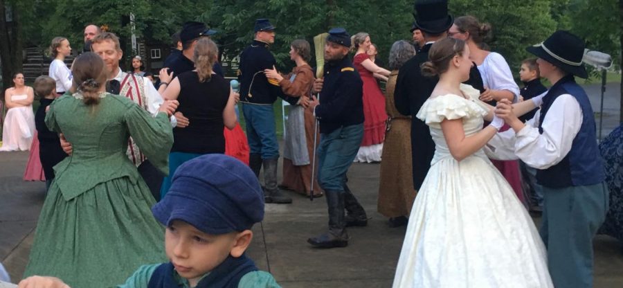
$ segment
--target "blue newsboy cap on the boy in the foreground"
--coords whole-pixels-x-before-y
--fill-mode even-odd
[[[206,154],[177,168],[170,190],[152,213],[165,226],[181,220],[220,235],[261,222],[264,196],[249,166],[224,154]]]

